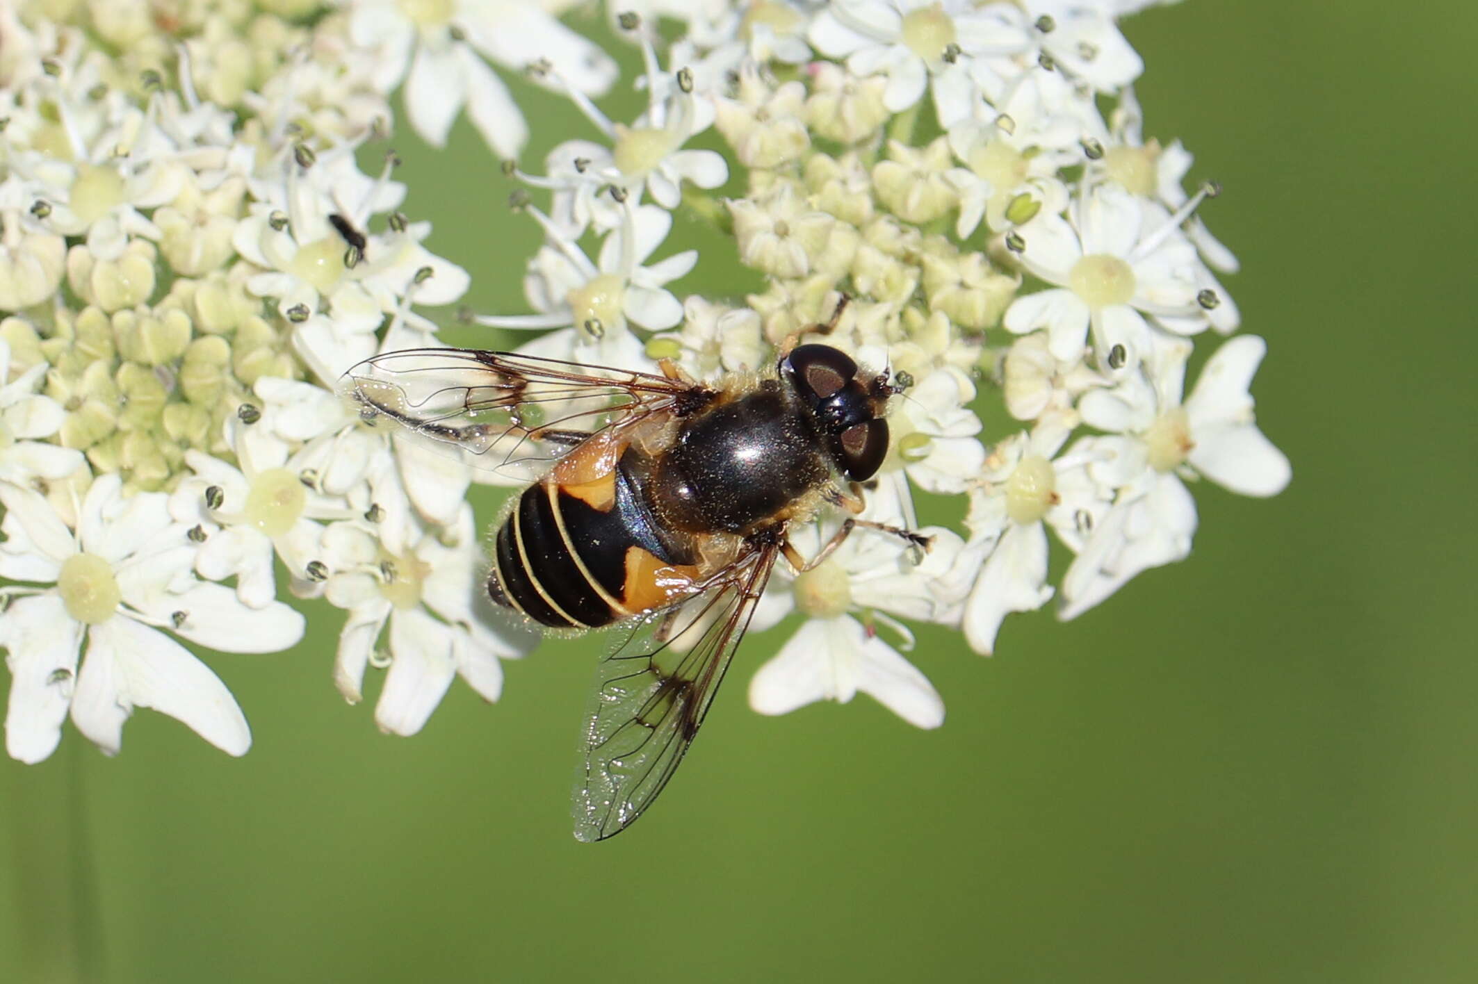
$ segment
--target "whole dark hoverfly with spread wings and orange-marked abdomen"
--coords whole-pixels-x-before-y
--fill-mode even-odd
[[[386,418],[531,483],[494,535],[488,594],[553,629],[631,623],[602,663],[573,795],[600,841],[652,804],[687,752],[776,561],[814,567],[859,525],[903,387],[840,349],[789,343],[770,371],[689,380],[508,352],[411,349],[346,389]],[[791,525],[850,513],[814,557]]]

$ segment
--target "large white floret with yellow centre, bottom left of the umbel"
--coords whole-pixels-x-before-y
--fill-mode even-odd
[[[0,576],[38,585],[6,588],[22,595],[0,619],[12,677],[6,749],[44,759],[71,712],[77,730],[115,754],[133,709],[152,708],[242,755],[251,731],[231,691],[158,628],[220,652],[266,653],[302,638],[303,616],[278,603],[248,609],[231,588],[197,581],[195,545],[166,496],[121,489],[117,474],[99,476],[74,533],[35,492],[0,485]]]

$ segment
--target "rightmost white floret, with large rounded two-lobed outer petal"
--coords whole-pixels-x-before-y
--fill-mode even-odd
[[[1131,375],[1113,390],[1079,400],[1083,421],[1110,431],[1085,437],[1094,479],[1114,489],[1113,508],[1063,578],[1060,616],[1075,618],[1117,591],[1134,575],[1190,553],[1196,502],[1182,479],[1197,474],[1242,495],[1277,495],[1289,483],[1287,458],[1258,430],[1249,393],[1267,343],[1237,335],[1202,369],[1182,403],[1190,343],[1157,346],[1148,375]]]

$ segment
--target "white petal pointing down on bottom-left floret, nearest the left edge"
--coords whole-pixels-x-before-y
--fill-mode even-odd
[[[19,598],[0,619],[0,646],[10,668],[4,743],[12,758],[40,762],[61,742],[81,631],[56,595]]]

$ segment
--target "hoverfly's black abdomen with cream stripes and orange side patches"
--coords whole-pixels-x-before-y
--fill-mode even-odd
[[[576,449],[523,491],[495,538],[494,601],[548,626],[596,628],[692,592],[693,557],[674,556],[658,536],[628,458],[610,461],[615,451]]]

